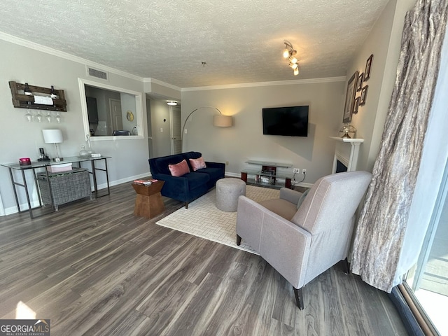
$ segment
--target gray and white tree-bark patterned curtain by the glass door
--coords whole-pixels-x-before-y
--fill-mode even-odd
[[[403,274],[396,271],[437,82],[447,11],[447,0],[417,0],[406,15],[381,148],[353,242],[352,272],[388,293],[402,281]]]

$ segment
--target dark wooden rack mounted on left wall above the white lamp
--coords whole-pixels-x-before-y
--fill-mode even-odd
[[[65,100],[64,90],[55,90],[57,94],[57,99],[52,99],[52,105],[45,104],[36,104],[34,103],[34,93],[36,96],[45,96],[50,97],[51,89],[48,87],[40,87],[29,85],[29,89],[33,93],[31,96],[27,96],[26,94],[22,94],[25,89],[25,84],[16,83],[11,80],[9,82],[9,87],[11,89],[11,94],[13,95],[13,105],[14,107],[18,107],[20,109],[36,109],[36,110],[49,110],[49,111],[59,111],[66,112],[67,104]]]

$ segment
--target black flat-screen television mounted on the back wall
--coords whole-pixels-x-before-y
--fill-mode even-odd
[[[263,134],[308,137],[309,106],[262,109]]]

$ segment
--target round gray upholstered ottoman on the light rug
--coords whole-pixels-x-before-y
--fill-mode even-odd
[[[221,179],[216,181],[216,207],[223,211],[235,212],[238,197],[246,196],[246,183],[240,179]]]

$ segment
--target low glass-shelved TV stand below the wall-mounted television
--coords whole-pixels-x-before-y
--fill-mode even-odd
[[[254,165],[253,169],[245,169],[241,172],[241,180],[246,183],[257,184],[260,186],[270,186],[274,188],[283,187],[277,179],[285,179],[284,187],[291,188],[291,179],[293,174],[279,172],[278,168],[293,167],[290,163],[265,162],[257,160],[246,161],[248,165]],[[253,179],[248,179],[248,175],[253,175]]]

